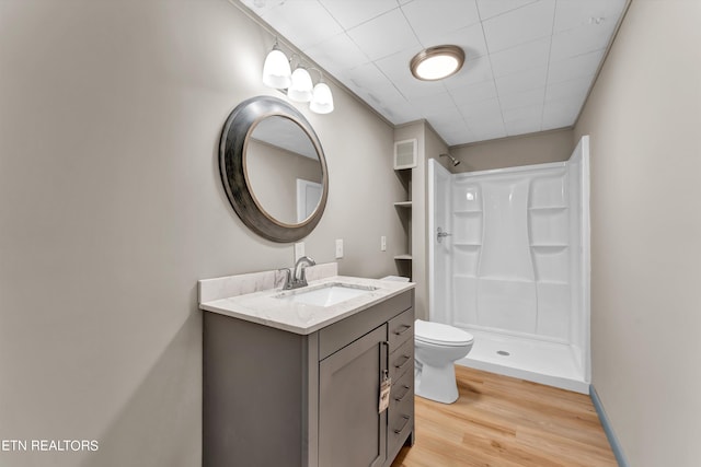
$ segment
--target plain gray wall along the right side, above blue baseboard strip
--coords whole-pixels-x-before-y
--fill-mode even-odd
[[[701,459],[701,2],[634,0],[591,136],[593,381],[631,466]]]

